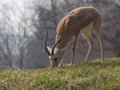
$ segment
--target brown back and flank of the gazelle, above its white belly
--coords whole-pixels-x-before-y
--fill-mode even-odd
[[[90,6],[73,9],[59,22],[57,26],[56,41],[62,35],[64,38],[61,42],[66,40],[67,43],[73,36],[77,37],[80,30],[91,22],[93,22],[93,25],[96,27],[98,27],[97,24],[99,24],[99,26],[101,25],[101,17],[96,8]]]

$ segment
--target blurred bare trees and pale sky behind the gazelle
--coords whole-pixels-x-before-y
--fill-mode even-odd
[[[94,6],[102,17],[101,35],[105,57],[120,57],[120,0],[1,0],[0,1],[0,68],[32,69],[49,65],[44,51],[45,31],[48,45],[54,44],[56,26],[60,19],[79,6]],[[100,57],[99,43],[89,59]],[[65,62],[71,59],[70,45]],[[84,59],[88,44],[80,36],[76,61]]]

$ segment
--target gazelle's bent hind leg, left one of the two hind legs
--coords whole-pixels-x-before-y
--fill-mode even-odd
[[[91,52],[91,48],[92,48],[93,45],[94,45],[94,42],[93,42],[93,40],[91,39],[89,33],[83,33],[82,35],[83,35],[84,38],[87,40],[88,45],[89,45],[88,52],[87,52],[87,55],[86,55],[85,60],[84,60],[84,61],[86,62],[87,59],[88,59],[88,57],[89,57],[89,54],[90,54],[90,52]]]

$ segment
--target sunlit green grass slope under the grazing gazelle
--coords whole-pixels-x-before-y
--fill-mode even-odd
[[[72,67],[0,70],[0,90],[120,90],[120,58]]]

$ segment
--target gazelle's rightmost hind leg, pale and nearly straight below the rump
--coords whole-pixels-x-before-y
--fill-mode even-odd
[[[100,36],[100,33],[97,32],[97,30],[93,30],[94,34],[97,36],[99,43],[100,43],[100,49],[101,49],[101,61],[104,60],[104,51],[103,51],[103,41],[102,38]]]

